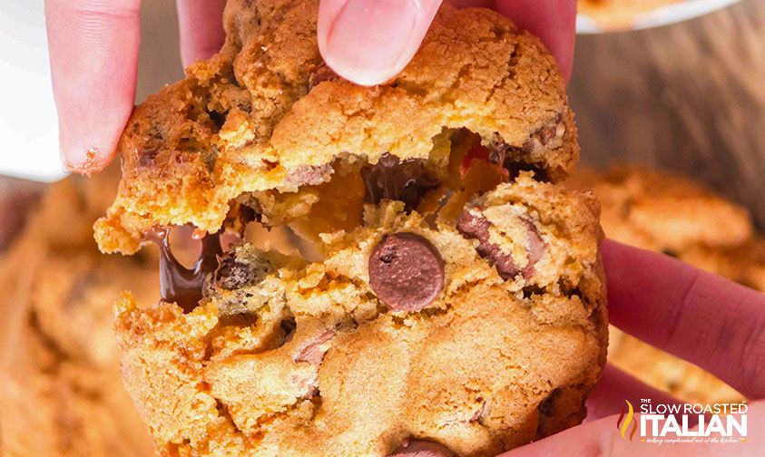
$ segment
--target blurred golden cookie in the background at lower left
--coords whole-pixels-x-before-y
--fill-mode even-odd
[[[151,455],[125,394],[103,299],[158,287],[150,256],[102,256],[93,220],[119,170],[53,184],[0,263],[0,453]]]

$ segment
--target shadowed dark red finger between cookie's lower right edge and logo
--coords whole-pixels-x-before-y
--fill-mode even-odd
[[[624,373],[613,365],[605,365],[601,382],[595,385],[593,392],[587,397],[587,418],[592,422],[612,414],[621,413],[620,409],[627,400],[633,405],[641,404],[642,399],[651,400],[652,404],[681,404],[679,400],[642,384],[633,376]],[[695,423],[691,423],[695,425]]]

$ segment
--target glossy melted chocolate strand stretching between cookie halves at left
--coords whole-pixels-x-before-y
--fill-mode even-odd
[[[201,300],[204,277],[218,268],[218,257],[223,255],[219,233],[201,238],[201,253],[191,268],[183,267],[172,255],[167,228],[154,228],[145,239],[160,249],[160,293],[162,299],[175,302],[187,313]]]

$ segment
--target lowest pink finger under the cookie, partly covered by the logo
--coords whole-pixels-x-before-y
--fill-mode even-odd
[[[639,408],[638,406],[635,406]],[[749,405],[747,411],[748,430],[759,430],[765,423],[765,403],[756,402]],[[561,433],[544,438],[538,442],[525,445],[510,452],[505,452],[497,457],[543,457],[547,455],[572,455],[572,456],[645,456],[645,455],[672,455],[672,457],[684,456],[722,456],[722,455],[762,455],[765,452],[765,434],[748,433],[746,442],[664,442],[661,447],[650,442],[641,442],[638,436],[630,441],[630,430],[625,432],[625,438],[621,430],[616,427],[619,416],[611,415],[603,417],[591,423],[584,423],[570,428]],[[637,419],[633,419],[636,421]],[[638,430],[640,426],[638,426]],[[637,434],[637,433],[636,433]],[[649,434],[648,436],[652,436]],[[673,434],[668,434],[666,439],[672,439]],[[736,453],[731,453],[730,446],[735,447]]]

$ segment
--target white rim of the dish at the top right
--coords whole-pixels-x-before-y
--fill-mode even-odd
[[[666,5],[657,8],[650,13],[635,15],[633,23],[627,27],[609,28],[605,24],[597,24],[586,15],[576,15],[577,34],[603,34],[625,30],[641,30],[660,25],[673,24],[692,17],[706,15],[719,10],[740,0],[687,0],[685,2]]]

